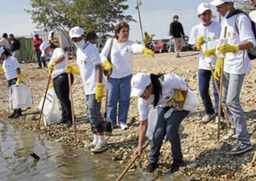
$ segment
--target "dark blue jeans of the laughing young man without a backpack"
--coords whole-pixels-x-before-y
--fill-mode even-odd
[[[215,112],[218,113],[218,105],[219,105],[219,96],[216,86],[213,82],[213,95],[215,100],[215,111],[213,109],[213,104],[211,103],[211,97],[209,95],[209,86],[211,80],[211,70],[198,70],[198,85],[199,85],[199,92],[204,104],[204,109],[206,114],[214,114]],[[219,85],[219,82],[217,82]]]

